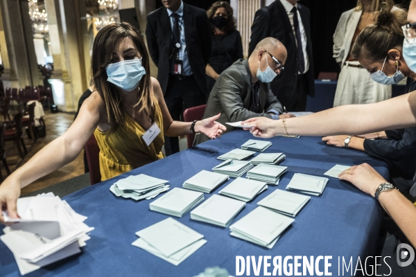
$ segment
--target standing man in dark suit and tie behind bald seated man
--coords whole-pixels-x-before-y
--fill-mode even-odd
[[[311,44],[311,13],[298,0],[276,0],[257,10],[249,53],[261,39],[275,37],[286,46],[285,71],[271,83],[275,96],[289,111],[304,111],[306,96],[315,95]]]

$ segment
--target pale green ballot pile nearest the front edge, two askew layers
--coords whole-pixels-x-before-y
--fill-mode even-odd
[[[179,265],[207,242],[202,239],[204,235],[173,220],[172,217],[138,231],[136,235],[140,238],[132,245],[173,265]]]

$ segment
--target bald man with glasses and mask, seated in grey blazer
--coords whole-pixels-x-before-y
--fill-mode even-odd
[[[293,117],[270,90],[270,82],[284,71],[287,51],[279,40],[266,37],[247,60],[238,60],[216,80],[203,118],[221,114],[218,122],[243,121],[257,116],[279,119]],[[233,128],[227,126],[227,132]],[[225,132],[223,133],[225,134]],[[207,141],[196,136],[195,144]]]

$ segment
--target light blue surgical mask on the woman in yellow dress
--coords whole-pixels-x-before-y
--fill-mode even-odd
[[[114,64],[108,64],[107,82],[115,84],[120,89],[132,91],[137,88],[146,70],[141,66],[141,59],[124,60]]]

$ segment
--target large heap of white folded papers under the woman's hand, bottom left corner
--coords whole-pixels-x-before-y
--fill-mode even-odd
[[[53,193],[17,200],[20,218],[3,212],[6,222],[1,241],[15,256],[21,275],[28,274],[58,260],[80,253],[94,228],[83,223],[87,217]],[[1,270],[0,270],[1,271]]]

